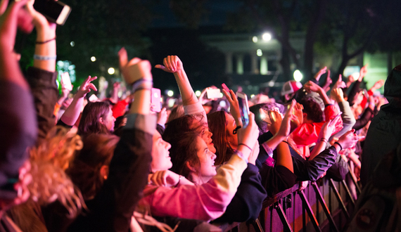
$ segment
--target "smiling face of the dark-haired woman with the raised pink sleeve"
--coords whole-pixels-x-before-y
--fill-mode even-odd
[[[208,181],[217,174],[215,167],[216,155],[209,150],[203,138],[198,136],[196,139],[196,150],[200,162],[198,176],[204,181]]]

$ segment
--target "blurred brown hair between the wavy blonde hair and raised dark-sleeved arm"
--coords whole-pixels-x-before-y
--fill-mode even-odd
[[[94,198],[103,186],[100,169],[103,165],[110,165],[119,140],[118,136],[111,134],[89,134],[83,138],[84,147],[77,153],[67,174],[82,192],[84,200]]]

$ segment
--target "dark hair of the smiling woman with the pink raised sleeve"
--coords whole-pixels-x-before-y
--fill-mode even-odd
[[[172,161],[172,172],[180,174],[186,179],[191,178],[190,174],[193,171],[186,166],[186,162],[189,162],[192,167],[200,166],[198,148],[196,146],[198,138],[200,138],[200,136],[197,133],[187,132],[169,141],[171,144],[170,157]],[[197,169],[197,171],[198,170],[199,169]]]

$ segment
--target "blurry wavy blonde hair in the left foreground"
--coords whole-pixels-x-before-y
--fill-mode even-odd
[[[75,151],[82,147],[80,136],[71,136],[63,127],[53,127],[39,145],[30,149],[32,182],[28,188],[32,200],[39,205],[58,200],[69,217],[75,217],[82,207],[86,209],[81,192],[65,174]]]

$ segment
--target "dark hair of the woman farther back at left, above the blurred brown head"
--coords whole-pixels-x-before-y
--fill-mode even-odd
[[[82,112],[81,121],[78,125],[78,132],[80,136],[87,136],[88,134],[110,134],[110,131],[104,124],[99,121],[102,117],[106,119],[110,105],[106,102],[94,102],[85,105]]]

